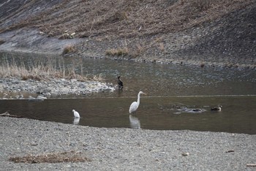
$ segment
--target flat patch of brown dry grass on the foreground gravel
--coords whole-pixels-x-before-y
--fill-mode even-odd
[[[31,164],[32,163],[60,163],[60,162],[91,161],[91,159],[83,156],[83,153],[75,152],[75,151],[10,157],[9,160],[15,163],[31,163]]]

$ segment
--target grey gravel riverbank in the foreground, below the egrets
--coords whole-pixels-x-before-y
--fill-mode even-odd
[[[0,128],[1,170],[255,170],[256,164],[256,135],[249,134],[106,129],[8,117],[0,117]],[[70,151],[89,161],[9,161]]]

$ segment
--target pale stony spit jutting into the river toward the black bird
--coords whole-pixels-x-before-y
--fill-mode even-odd
[[[67,94],[90,94],[93,92],[114,91],[115,87],[111,84],[99,81],[81,82],[76,79],[67,80],[20,80],[16,77],[7,77],[0,80],[0,92],[3,96],[0,99],[20,99],[26,98],[23,92],[30,94],[42,94],[43,96],[56,96]]]

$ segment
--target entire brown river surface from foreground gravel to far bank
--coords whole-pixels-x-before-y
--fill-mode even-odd
[[[62,96],[42,102],[1,100],[0,113],[42,121],[97,127],[132,129],[189,129],[211,132],[256,134],[256,72],[253,69],[146,64],[94,58],[65,58],[67,65],[83,64],[83,73],[105,77],[116,84],[121,75],[122,91]],[[129,105],[140,99],[135,115]],[[221,112],[211,107],[222,105]],[[193,111],[200,108],[200,111]],[[72,110],[80,113],[74,119]]]

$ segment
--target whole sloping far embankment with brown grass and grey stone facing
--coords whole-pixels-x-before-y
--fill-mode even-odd
[[[79,56],[255,67],[256,1],[6,0],[0,41],[0,50],[75,45]]]

